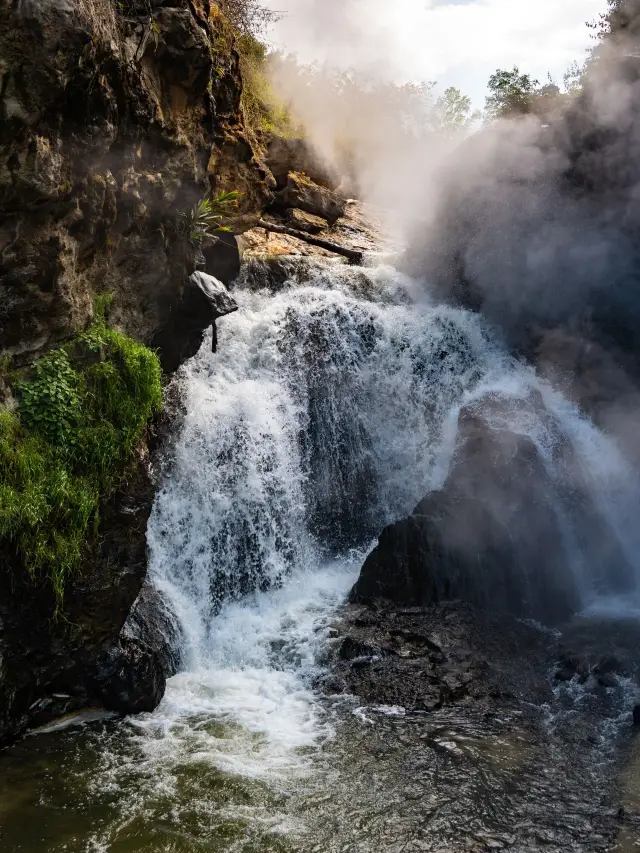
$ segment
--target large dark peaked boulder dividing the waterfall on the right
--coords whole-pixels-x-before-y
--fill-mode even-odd
[[[620,572],[625,588],[632,572],[588,493],[572,479],[577,466],[569,443],[558,443],[560,473],[552,477],[532,439],[500,426],[501,405],[489,400],[461,411],[444,487],[382,532],[351,601],[424,606],[462,599],[562,622],[581,601],[565,534],[572,508],[594,572]],[[533,397],[529,405],[542,401]]]

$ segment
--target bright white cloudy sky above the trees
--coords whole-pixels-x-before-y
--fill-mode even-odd
[[[267,0],[271,39],[304,62],[357,67],[397,82],[457,86],[482,106],[489,75],[518,65],[559,83],[592,40],[606,0]]]

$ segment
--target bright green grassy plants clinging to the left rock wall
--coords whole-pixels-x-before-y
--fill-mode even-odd
[[[34,582],[49,583],[57,614],[97,532],[100,501],[160,410],[160,365],[98,321],[13,391],[17,411],[0,407],[0,560],[13,554]]]

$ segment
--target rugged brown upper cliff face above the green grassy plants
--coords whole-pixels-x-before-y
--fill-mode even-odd
[[[240,213],[271,197],[227,26],[208,0],[2,4],[0,354],[70,336],[98,291],[134,337],[180,334],[179,213],[212,188],[239,190]]]

